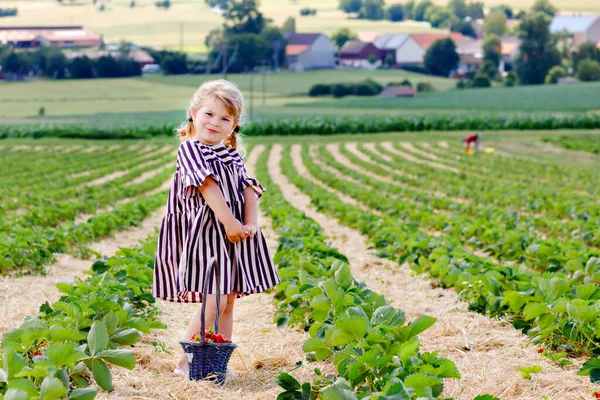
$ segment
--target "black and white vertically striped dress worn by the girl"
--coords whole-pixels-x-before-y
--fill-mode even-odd
[[[267,243],[259,230],[254,239],[232,243],[225,227],[206,204],[198,190],[211,176],[221,188],[233,215],[243,223],[242,191],[251,186],[260,197],[260,183],[250,178],[237,150],[224,144],[205,145],[188,139],[177,151],[177,171],[173,176],[166,215],[158,235],[154,259],[152,294],[179,303],[202,301],[205,268],[211,257],[221,267],[221,279],[210,277],[208,293],[234,291],[239,296],[260,293],[279,283]]]

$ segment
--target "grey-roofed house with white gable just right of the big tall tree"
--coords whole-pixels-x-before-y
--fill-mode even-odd
[[[287,33],[286,39],[290,70],[335,68],[335,45],[322,33]]]

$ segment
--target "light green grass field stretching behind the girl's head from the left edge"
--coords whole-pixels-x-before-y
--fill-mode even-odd
[[[266,114],[295,114],[286,103],[314,101],[306,95],[314,83],[353,82],[370,77],[383,84],[410,79],[430,82],[436,90],[449,90],[454,81],[406,71],[312,71],[282,72],[265,76],[266,103],[262,106],[262,77],[254,77],[254,106]],[[0,117],[32,117],[41,107],[47,116],[96,113],[184,112],[194,90],[207,79],[222,75],[151,76],[127,79],[92,79],[4,83],[0,91]],[[250,76],[228,75],[249,103]],[[249,106],[249,104],[248,104]],[[302,110],[304,113],[307,110]],[[388,112],[388,111],[384,111]],[[338,114],[332,110],[332,114]],[[344,112],[346,113],[346,112]]]

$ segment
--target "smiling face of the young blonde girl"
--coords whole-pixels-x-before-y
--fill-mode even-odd
[[[193,115],[195,139],[209,146],[221,143],[231,135],[235,119],[218,100],[209,100]]]

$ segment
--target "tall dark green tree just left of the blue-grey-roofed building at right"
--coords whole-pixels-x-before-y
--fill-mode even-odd
[[[560,53],[550,33],[550,17],[544,13],[529,14],[519,25],[522,40],[516,60],[519,81],[525,85],[544,83],[550,68],[560,64]]]

